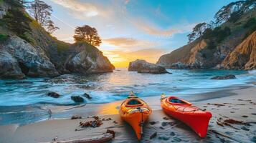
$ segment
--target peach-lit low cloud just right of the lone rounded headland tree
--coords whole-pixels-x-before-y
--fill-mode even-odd
[[[118,46],[121,48],[143,48],[158,45],[157,42],[147,41],[147,40],[139,40],[133,38],[125,38],[125,37],[116,37],[110,39],[103,39],[103,42],[108,43],[113,46]]]

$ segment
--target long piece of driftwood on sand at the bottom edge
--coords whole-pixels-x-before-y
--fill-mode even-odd
[[[113,139],[113,134],[105,133],[103,135],[100,135],[98,137],[93,138],[84,138],[84,139],[73,139],[68,141],[54,141],[50,143],[100,143],[100,142],[108,142],[111,139]]]

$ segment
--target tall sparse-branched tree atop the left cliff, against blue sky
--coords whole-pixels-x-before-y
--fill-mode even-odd
[[[50,19],[52,6],[49,6],[44,1],[32,1],[29,6],[29,13],[34,17],[37,23],[43,26],[50,34],[59,29],[57,26],[54,26],[53,21]]]

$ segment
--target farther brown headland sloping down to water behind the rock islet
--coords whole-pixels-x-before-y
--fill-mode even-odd
[[[196,41],[172,51],[170,54],[161,56],[156,64],[171,69],[197,69],[209,68],[217,64],[218,56],[214,51],[207,48],[207,41],[197,39]]]

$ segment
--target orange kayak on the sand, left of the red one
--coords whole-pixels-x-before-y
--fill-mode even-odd
[[[141,140],[143,124],[151,113],[152,110],[148,104],[134,94],[123,101],[119,110],[120,117],[133,127],[138,140]]]

